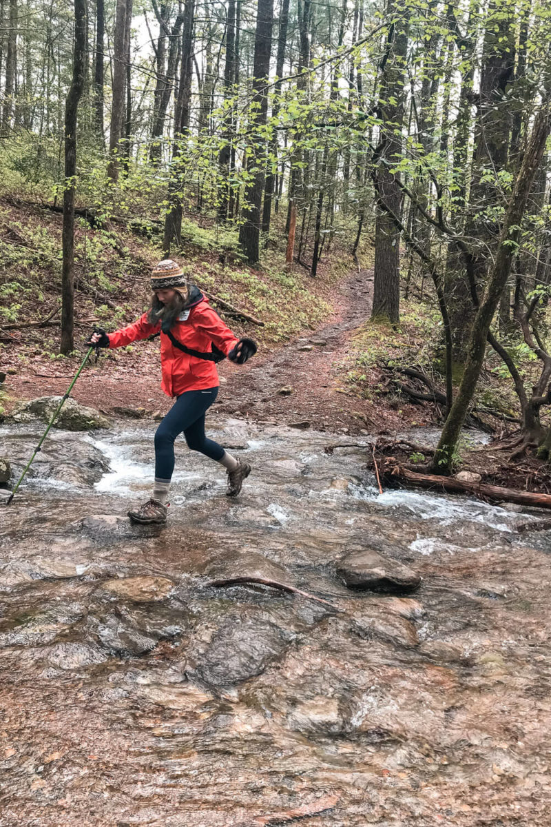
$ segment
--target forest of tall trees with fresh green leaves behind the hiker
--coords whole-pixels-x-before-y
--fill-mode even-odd
[[[86,232],[207,245],[306,291],[324,262],[373,267],[380,340],[408,299],[430,320],[430,347],[385,369],[439,403],[433,470],[456,464],[481,374],[498,386],[478,407],[547,458],[549,26],[530,0],[2,0],[4,322],[47,268],[74,351],[75,280],[114,289]],[[61,261],[10,229],[37,205],[63,217]]]

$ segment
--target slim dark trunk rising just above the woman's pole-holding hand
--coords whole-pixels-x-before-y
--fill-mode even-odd
[[[63,196],[63,263],[61,267],[61,343],[74,350],[74,177],[77,171],[77,112],[86,64],[86,0],[74,0],[73,79],[65,103],[65,189]]]

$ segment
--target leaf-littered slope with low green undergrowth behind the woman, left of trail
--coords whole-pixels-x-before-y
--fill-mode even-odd
[[[114,330],[143,313],[150,299],[150,267],[162,257],[162,226],[157,219],[134,218],[128,225],[112,222],[105,229],[75,222],[75,345],[90,327]],[[274,233],[277,235],[277,233]],[[348,261],[321,266],[312,280],[307,271],[284,264],[283,239],[263,252],[258,269],[245,265],[238,235],[205,216],[183,220],[182,251],[173,257],[190,280],[214,297],[225,300],[264,322],[247,323],[216,305],[229,326],[264,345],[283,342],[304,328],[316,327],[330,312],[331,284],[345,275]],[[61,291],[61,216],[38,207],[17,207],[0,199],[0,327],[21,323],[0,342],[0,361],[24,361],[57,356]],[[335,254],[338,261],[339,253]],[[348,259],[348,256],[347,256]],[[44,328],[26,327],[45,320]],[[17,351],[9,344],[17,343]],[[2,356],[2,351],[4,356]]]

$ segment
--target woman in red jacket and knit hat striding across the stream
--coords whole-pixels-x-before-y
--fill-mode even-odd
[[[166,523],[170,480],[174,470],[174,440],[183,433],[192,451],[199,451],[226,468],[227,495],[240,493],[250,466],[232,457],[205,436],[205,414],[216,399],[220,382],[216,361],[225,356],[242,365],[256,353],[252,339],[237,340],[209,307],[201,291],[167,259],[151,274],[153,296],[147,313],[114,333],[96,328],[88,345],[124,347],[160,332],[161,387],[176,399],[155,433],[155,478],[150,500],[128,512],[135,523]]]

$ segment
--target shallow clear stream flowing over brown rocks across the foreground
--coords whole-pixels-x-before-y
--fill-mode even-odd
[[[55,431],[0,509],[2,827],[549,825],[537,517],[378,495],[346,438],[229,420],[240,498],[178,441],[169,524],[132,526],[153,428]],[[15,473],[38,433],[3,428]],[[420,588],[347,588],[366,547]],[[327,602],[210,585],[240,576]]]

